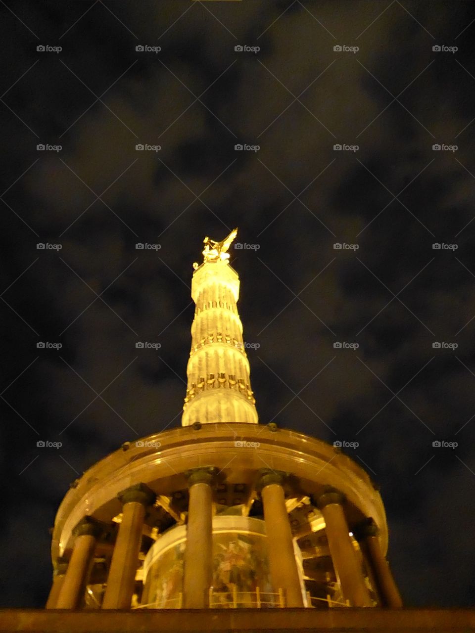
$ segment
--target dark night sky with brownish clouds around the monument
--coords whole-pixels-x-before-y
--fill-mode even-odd
[[[260,247],[231,254],[260,422],[359,442],[346,452],[381,484],[406,605],[474,605],[475,4],[0,13],[1,606],[44,605],[70,482],[179,425],[191,265],[236,225]]]

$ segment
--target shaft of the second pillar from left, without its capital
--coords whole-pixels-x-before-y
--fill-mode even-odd
[[[96,548],[96,537],[91,534],[82,534],[76,537],[68,570],[63,580],[56,609],[79,608],[86,575]]]

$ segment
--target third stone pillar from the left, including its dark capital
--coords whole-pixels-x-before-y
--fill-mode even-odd
[[[156,495],[144,484],[136,484],[120,492],[118,498],[124,507],[107,577],[103,609],[130,609],[146,508],[155,502]]]

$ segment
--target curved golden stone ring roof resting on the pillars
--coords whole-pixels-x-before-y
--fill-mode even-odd
[[[138,446],[137,446],[138,444]],[[249,445],[257,444],[254,448]],[[157,448],[158,446],[158,448]],[[288,511],[293,533],[299,538],[322,529],[322,516],[302,499],[317,495],[324,486],[337,487],[348,499],[350,524],[373,517],[384,554],[388,528],[383,501],[367,473],[357,463],[326,442],[286,429],[254,424],[214,423],[200,429],[167,430],[131,442],[89,468],[66,494],[54,524],[52,557],[72,547],[72,530],[85,515],[110,523],[122,511],[117,494],[140,482],[169,504],[177,520],[181,509],[170,503],[177,491],[186,491],[190,468],[217,467],[222,486],[241,486],[243,511],[255,499],[255,482],[262,468],[291,473]],[[218,487],[219,488],[219,487]],[[216,493],[217,504],[233,505],[234,497]],[[162,507],[163,507],[162,505]],[[299,508],[299,506],[301,506]],[[304,507],[305,506],[305,507]],[[148,528],[150,529],[150,528]],[[309,542],[308,548],[318,547]]]

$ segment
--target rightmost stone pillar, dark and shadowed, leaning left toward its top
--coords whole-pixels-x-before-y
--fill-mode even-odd
[[[360,543],[367,565],[371,568],[372,576],[376,584],[376,591],[381,598],[383,606],[391,609],[402,608],[402,599],[398,587],[391,573],[388,561],[384,558],[379,543],[379,529],[369,518],[353,528],[353,534]]]

